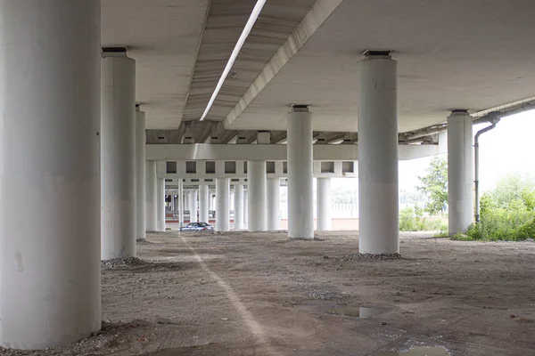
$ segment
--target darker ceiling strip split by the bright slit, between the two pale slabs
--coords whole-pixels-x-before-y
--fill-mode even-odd
[[[206,119],[223,120],[316,0],[269,0]],[[187,99],[185,121],[198,120],[256,4],[212,0]]]

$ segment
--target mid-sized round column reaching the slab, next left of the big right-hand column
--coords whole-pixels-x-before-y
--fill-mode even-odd
[[[288,114],[288,236],[314,239],[312,117],[294,106]]]

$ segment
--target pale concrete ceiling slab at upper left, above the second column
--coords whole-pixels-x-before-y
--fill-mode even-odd
[[[209,0],[102,0],[103,45],[128,45],[147,128],[180,125]]]

